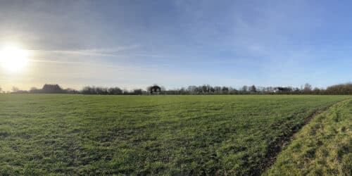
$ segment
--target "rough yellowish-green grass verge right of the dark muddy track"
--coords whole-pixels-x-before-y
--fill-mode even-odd
[[[352,175],[352,100],[303,127],[267,175]]]

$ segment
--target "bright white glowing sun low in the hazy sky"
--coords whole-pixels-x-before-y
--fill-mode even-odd
[[[22,71],[28,63],[28,52],[16,46],[6,46],[0,50],[0,65],[11,73]]]

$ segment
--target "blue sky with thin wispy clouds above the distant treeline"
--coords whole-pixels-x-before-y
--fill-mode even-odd
[[[0,0],[0,87],[327,87],[351,81],[351,1]]]

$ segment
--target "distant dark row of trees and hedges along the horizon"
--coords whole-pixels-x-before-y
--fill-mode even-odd
[[[13,87],[11,93],[17,94],[101,94],[101,95],[146,95],[150,87],[144,89],[120,89],[120,87],[83,87],[81,90],[63,89],[58,84],[44,84],[42,89],[32,87],[30,90],[20,90]],[[0,87],[1,92],[1,87]],[[313,88],[310,84],[298,87],[256,87],[255,85],[243,86],[241,89],[233,87],[210,86],[204,84],[200,86],[182,87],[180,89],[165,89],[162,87],[160,94],[170,95],[197,95],[197,94],[352,94],[352,83],[336,84],[326,89]]]

